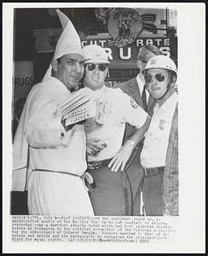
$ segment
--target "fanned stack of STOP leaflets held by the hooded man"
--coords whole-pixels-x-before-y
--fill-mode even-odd
[[[72,125],[95,116],[95,100],[92,90],[80,89],[70,95],[60,106],[60,113],[66,125]]]

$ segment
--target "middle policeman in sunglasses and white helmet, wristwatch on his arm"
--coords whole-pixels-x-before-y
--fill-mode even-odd
[[[84,47],[84,86],[95,92],[96,116],[85,123],[88,172],[95,184],[90,199],[95,215],[130,215],[130,183],[124,166],[142,140],[150,117],[120,89],[108,88],[109,61],[101,46]],[[125,123],[136,132],[122,145]]]

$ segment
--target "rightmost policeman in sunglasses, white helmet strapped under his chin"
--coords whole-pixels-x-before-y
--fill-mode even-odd
[[[167,163],[166,152],[172,119],[177,106],[176,64],[168,56],[154,56],[147,62],[142,73],[145,76],[147,90],[157,101],[141,153],[144,171],[142,187],[144,213],[163,215],[165,207],[163,202],[164,171],[165,166],[170,164]],[[170,158],[168,161],[171,161],[171,166],[176,164],[176,158]],[[177,184],[177,177],[174,183]],[[178,189],[177,186],[175,189]]]

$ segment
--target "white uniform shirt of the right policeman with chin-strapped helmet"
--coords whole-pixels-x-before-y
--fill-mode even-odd
[[[151,168],[165,166],[165,157],[170,136],[173,113],[176,109],[176,92],[162,106],[157,103],[153,117],[145,134],[144,146],[141,153],[142,166]]]

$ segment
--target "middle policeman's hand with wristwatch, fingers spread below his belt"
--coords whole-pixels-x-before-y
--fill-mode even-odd
[[[107,167],[111,168],[112,172],[117,172],[119,167],[121,167],[120,171],[124,171],[124,166],[129,160],[132,150],[133,147],[130,145],[130,143],[125,143],[124,146],[118,150],[117,154],[113,156],[113,159],[110,161]]]

